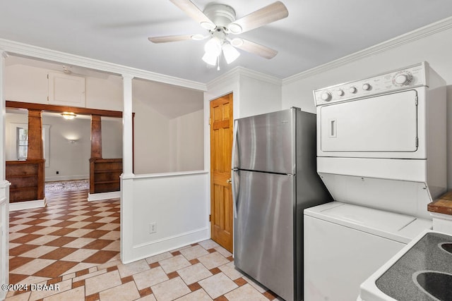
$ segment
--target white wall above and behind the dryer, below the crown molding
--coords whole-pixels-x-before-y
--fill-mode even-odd
[[[441,75],[448,85],[447,89],[447,154],[448,187],[452,187],[452,29],[442,30],[411,42],[389,47],[384,51],[341,66],[315,70],[304,75],[300,73],[284,81],[283,108],[299,106],[304,111],[315,112],[312,91],[329,85],[359,80],[388,70],[403,68],[420,61],[428,61],[430,66]]]

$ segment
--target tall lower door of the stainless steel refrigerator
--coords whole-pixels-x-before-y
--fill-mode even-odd
[[[234,264],[284,300],[293,300],[295,177],[234,173]]]

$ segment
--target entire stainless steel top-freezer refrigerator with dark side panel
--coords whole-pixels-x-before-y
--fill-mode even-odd
[[[292,108],[237,119],[234,263],[287,301],[303,297],[303,210],[331,201],[316,173],[316,116]]]

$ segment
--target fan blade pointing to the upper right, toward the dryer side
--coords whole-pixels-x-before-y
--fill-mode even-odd
[[[238,35],[239,33],[253,30],[254,28],[261,27],[262,25],[286,18],[287,16],[289,16],[289,11],[287,11],[287,8],[283,2],[276,1],[273,4],[265,6],[247,16],[235,20],[230,23],[230,25],[227,25],[227,27],[230,29],[231,33]],[[239,25],[239,27],[237,27],[237,25]],[[242,30],[239,30],[240,27]]]

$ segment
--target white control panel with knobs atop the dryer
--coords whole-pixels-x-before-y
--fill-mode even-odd
[[[427,85],[426,63],[314,91],[316,106]]]

